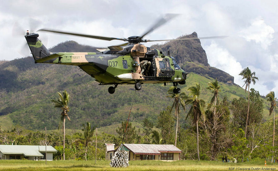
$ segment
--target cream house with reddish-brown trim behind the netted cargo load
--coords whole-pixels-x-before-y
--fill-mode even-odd
[[[106,160],[111,160],[114,155],[115,144],[106,145]],[[123,144],[125,151],[128,152],[128,160],[161,160],[177,161],[182,152],[175,145],[171,144]]]

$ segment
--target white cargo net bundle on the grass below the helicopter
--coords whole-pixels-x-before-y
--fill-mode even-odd
[[[111,167],[127,167],[128,165],[128,153],[124,150],[123,144],[120,145],[118,150],[114,153],[111,162]]]

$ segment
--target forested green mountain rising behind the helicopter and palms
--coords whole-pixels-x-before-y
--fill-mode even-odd
[[[179,43],[177,43],[179,44]],[[205,89],[207,83],[212,81],[214,75],[219,76],[225,72],[213,73],[205,63],[205,53],[197,40],[192,40],[192,47],[187,42],[186,48],[193,52],[194,58],[190,62],[183,60],[183,67],[196,66],[194,72],[187,75],[187,82],[181,85],[181,91],[187,93],[188,86],[199,83],[202,86],[201,98],[209,102],[212,94]],[[197,47],[199,44],[199,47]],[[194,47],[193,47],[194,45]],[[164,45],[169,46],[172,56],[179,54],[179,62],[183,56],[181,50],[175,50],[173,42]],[[50,51],[91,51],[94,47],[80,45],[74,41],[67,41],[50,49]],[[178,48],[178,47],[177,47]],[[159,49],[159,48],[158,48]],[[161,48],[162,49],[162,48]],[[199,49],[198,52],[195,49]],[[163,50],[163,49],[162,49]],[[164,51],[167,49],[165,48]],[[200,53],[201,52],[201,53]],[[198,55],[201,55],[198,57]],[[204,62],[201,63],[201,62]],[[203,68],[201,74],[195,73],[197,68]],[[201,69],[200,69],[201,70]],[[188,70],[187,70],[188,71]],[[208,72],[211,71],[211,72]],[[207,72],[207,73],[205,73]],[[240,71],[238,71],[240,72]],[[231,77],[231,76],[230,76]],[[217,79],[219,79],[217,77]],[[229,100],[238,97],[246,97],[244,90],[236,85],[227,84],[227,81],[219,82],[221,85],[220,98],[227,96]],[[110,85],[98,85],[85,72],[76,66],[51,65],[34,63],[32,57],[25,57],[11,61],[0,62],[0,125],[2,130],[9,130],[14,125],[20,125],[30,130],[42,130],[45,126],[48,130],[58,128],[61,116],[60,109],[54,108],[51,99],[57,99],[57,92],[67,90],[70,94],[71,121],[66,121],[66,128],[80,129],[83,123],[91,122],[94,126],[115,129],[117,124],[126,120],[133,103],[130,121],[140,124],[146,117],[156,124],[159,112],[166,106],[172,105],[172,100],[166,98],[167,90],[172,84],[144,84],[140,91],[135,91],[134,85],[118,85],[114,94],[109,94]],[[264,115],[267,119],[267,105],[264,99]],[[181,113],[181,126],[185,124],[185,112]],[[113,131],[111,131],[113,132]]]

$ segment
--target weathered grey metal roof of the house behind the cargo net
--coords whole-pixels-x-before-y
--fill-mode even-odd
[[[123,144],[133,153],[160,154],[160,152],[181,152],[172,144]]]

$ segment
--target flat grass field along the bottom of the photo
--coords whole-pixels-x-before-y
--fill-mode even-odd
[[[130,161],[127,168],[111,168],[109,161],[26,161],[1,160],[0,170],[277,170],[278,164],[264,160],[244,163],[222,163],[220,161]],[[234,168],[234,169],[233,169]]]

